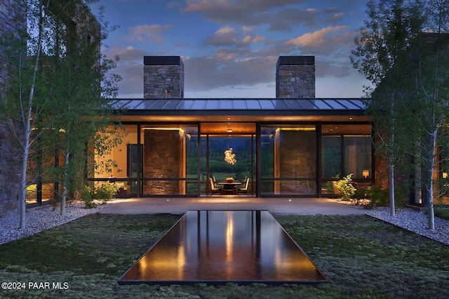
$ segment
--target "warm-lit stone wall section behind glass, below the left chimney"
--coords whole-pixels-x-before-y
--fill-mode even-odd
[[[177,130],[145,130],[144,178],[185,178],[185,138]],[[185,182],[149,180],[143,185],[144,194],[185,194]]]

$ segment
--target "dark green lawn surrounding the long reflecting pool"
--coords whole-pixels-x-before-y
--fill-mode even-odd
[[[449,298],[449,246],[366,215],[276,217],[330,284],[119,286],[178,218],[91,214],[1,245],[0,280],[26,289],[0,298]]]

